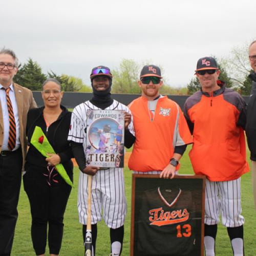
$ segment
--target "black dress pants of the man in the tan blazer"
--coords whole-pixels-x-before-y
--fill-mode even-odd
[[[18,217],[22,151],[0,155],[0,255],[10,255]]]

